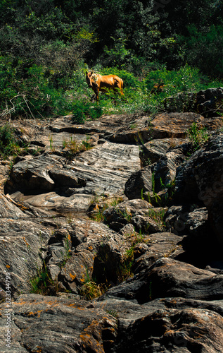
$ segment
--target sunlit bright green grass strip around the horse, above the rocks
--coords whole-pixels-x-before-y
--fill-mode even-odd
[[[179,70],[168,71],[166,68],[147,71],[143,78],[137,78],[132,72],[117,67],[100,68],[102,75],[115,74],[124,81],[124,96],[108,90],[100,92],[99,102],[91,102],[93,90],[88,88],[85,73],[86,64],[80,62],[79,68],[69,78],[56,83],[51,68],[31,66],[28,75],[20,85],[20,95],[15,93],[13,86],[20,78],[13,70],[12,63],[1,57],[4,64],[0,74],[5,78],[0,115],[18,117],[58,116],[72,114],[73,122],[82,124],[87,119],[98,119],[102,114],[156,114],[166,109],[166,98],[172,96],[171,106],[174,111],[185,111],[188,102],[179,104],[174,97],[179,92],[198,92],[210,87],[223,86],[222,81],[211,81],[203,76],[197,68],[188,65]],[[94,68],[93,68],[94,70]],[[2,71],[2,72],[1,72]],[[6,75],[7,71],[7,75]],[[97,70],[96,70],[97,71]],[[66,81],[67,80],[67,81]],[[65,82],[66,81],[66,82]],[[155,83],[163,82],[165,87],[160,94],[152,94]],[[130,128],[134,128],[130,126]]]

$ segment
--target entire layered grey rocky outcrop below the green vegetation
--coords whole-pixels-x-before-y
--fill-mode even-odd
[[[221,351],[223,140],[189,156],[193,122],[222,126],[12,122],[30,148],[0,165],[1,352]]]

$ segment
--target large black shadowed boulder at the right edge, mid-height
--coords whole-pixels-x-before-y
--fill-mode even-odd
[[[179,166],[175,181],[174,200],[204,204],[219,242],[222,239],[223,220],[223,134],[210,141]]]

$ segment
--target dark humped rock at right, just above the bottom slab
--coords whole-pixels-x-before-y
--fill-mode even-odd
[[[147,270],[106,292],[106,297],[136,300],[139,304],[165,297],[217,300],[222,296],[223,275],[171,258],[160,258]]]

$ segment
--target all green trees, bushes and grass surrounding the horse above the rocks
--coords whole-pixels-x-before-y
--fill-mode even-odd
[[[178,92],[223,85],[222,2],[155,6],[154,0],[2,0],[0,116],[72,114],[82,123],[103,113],[152,114]],[[120,76],[125,96],[108,92],[90,102],[89,68]],[[159,95],[151,94],[155,83],[165,84]],[[173,108],[186,106],[176,100]]]

